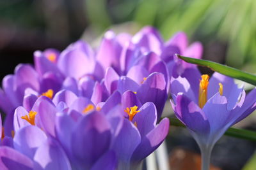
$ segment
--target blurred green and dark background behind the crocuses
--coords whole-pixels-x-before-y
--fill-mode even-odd
[[[0,80],[20,62],[32,63],[35,50],[63,50],[80,38],[95,43],[107,29],[134,33],[144,25],[159,29],[166,40],[184,31],[190,42],[202,42],[204,59],[256,73],[255,9],[255,0],[1,0]],[[199,153],[184,129],[171,136],[170,162],[182,152]],[[254,150],[250,141],[221,138],[212,168],[242,169]]]

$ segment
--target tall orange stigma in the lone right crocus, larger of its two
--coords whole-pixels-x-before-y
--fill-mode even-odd
[[[201,77],[202,80],[200,80],[199,84],[198,104],[200,108],[203,108],[204,104],[207,101],[207,87],[209,85],[209,76],[207,74],[204,74]]]

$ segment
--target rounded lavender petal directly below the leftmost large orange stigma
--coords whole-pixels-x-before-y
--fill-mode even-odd
[[[15,150],[33,159],[36,149],[47,139],[45,133],[36,126],[22,127],[13,138]]]

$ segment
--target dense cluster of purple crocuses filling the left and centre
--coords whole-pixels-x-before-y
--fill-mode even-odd
[[[199,74],[175,57],[200,57],[200,43],[187,46],[183,32],[164,43],[144,27],[134,36],[108,31],[97,49],[77,41],[35,52],[35,67],[20,64],[0,89],[1,169],[141,167],[168,134],[170,77]]]

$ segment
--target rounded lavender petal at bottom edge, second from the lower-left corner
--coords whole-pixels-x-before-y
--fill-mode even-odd
[[[45,170],[71,170],[67,155],[60,145],[51,139],[46,140],[38,147],[35,152],[34,160],[40,165],[40,167],[42,167],[42,169]]]

